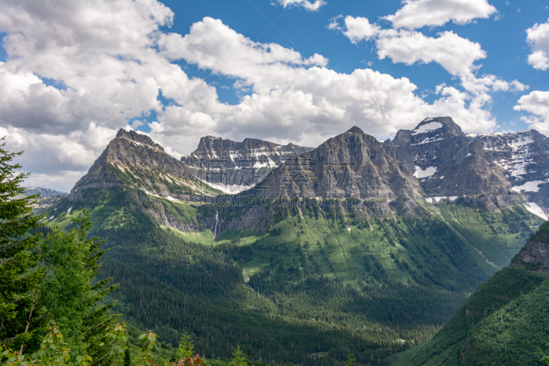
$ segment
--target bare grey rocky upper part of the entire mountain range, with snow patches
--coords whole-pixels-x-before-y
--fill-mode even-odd
[[[392,141],[353,127],[315,149],[207,136],[177,163],[150,137],[120,130],[71,195],[132,182],[143,192],[183,201],[252,189],[256,196],[382,199],[386,207],[401,205],[397,198],[432,203],[464,197],[494,208],[517,204],[513,191],[529,211],[546,218],[548,148],[547,137],[536,130],[473,136],[450,117],[428,117],[414,130],[399,130]],[[125,183],[117,174],[126,176]]]

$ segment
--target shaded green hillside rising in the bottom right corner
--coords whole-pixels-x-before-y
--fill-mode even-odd
[[[545,222],[511,266],[484,282],[433,339],[398,354],[392,365],[541,365],[537,347],[549,341],[549,277],[533,272],[547,271],[547,254],[524,254],[548,248]]]

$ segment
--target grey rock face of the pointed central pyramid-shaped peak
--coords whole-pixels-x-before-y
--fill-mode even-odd
[[[384,144],[353,127],[286,161],[253,192],[274,196],[419,198],[418,182],[399,168]]]

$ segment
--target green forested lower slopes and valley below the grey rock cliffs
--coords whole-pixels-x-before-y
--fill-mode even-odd
[[[188,329],[209,358],[229,356],[240,343],[256,360],[332,365],[351,350],[360,363],[377,364],[430,339],[498,269],[470,241],[500,238],[502,250],[518,247],[539,225],[519,206],[484,212],[448,205],[476,228],[460,234],[431,205],[419,208],[421,216],[382,218],[360,201],[301,203],[272,207],[266,232],[226,230],[213,238],[211,229],[158,225],[147,207],[161,206],[155,210],[188,227],[215,211],[225,220],[249,208],[174,203],[131,188],[94,192],[102,199],[56,205],[62,214],[53,221],[92,210],[93,234],[110,249],[104,276],[120,283],[115,311],[172,344]]]

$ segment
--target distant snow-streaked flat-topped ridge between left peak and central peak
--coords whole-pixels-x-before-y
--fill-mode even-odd
[[[203,181],[246,188],[263,181],[283,161],[310,150],[312,148],[259,139],[237,142],[205,136],[200,139],[198,148],[181,161],[194,168]]]

